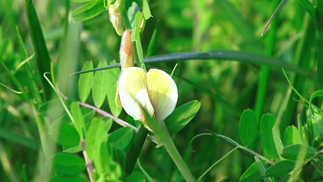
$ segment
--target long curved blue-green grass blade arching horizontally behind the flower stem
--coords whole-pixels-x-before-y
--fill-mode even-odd
[[[311,76],[308,71],[301,68],[293,66],[291,64],[285,63],[281,60],[274,59],[267,56],[257,55],[253,53],[246,53],[241,51],[231,51],[231,50],[213,50],[208,52],[187,52],[187,53],[171,53],[165,55],[152,56],[144,59],[144,63],[159,63],[159,62],[169,62],[169,61],[186,61],[186,60],[209,60],[209,59],[220,59],[227,61],[238,61],[242,63],[252,63],[255,65],[267,65],[273,68],[283,67],[296,73],[300,73],[306,76]],[[136,63],[135,63],[136,64]],[[79,71],[70,74],[79,75],[82,73],[88,73],[92,71],[99,71],[104,69],[111,69],[120,67],[120,63],[109,65],[105,67],[99,67],[91,70]]]

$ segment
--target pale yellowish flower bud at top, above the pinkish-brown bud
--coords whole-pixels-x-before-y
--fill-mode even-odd
[[[115,28],[118,35],[121,36],[124,31],[123,18],[122,18],[122,13],[119,10],[120,7],[116,6],[116,3],[113,5],[110,5],[109,16],[110,16],[110,21],[111,21],[113,27]]]

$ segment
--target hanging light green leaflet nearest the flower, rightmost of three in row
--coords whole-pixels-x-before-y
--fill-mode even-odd
[[[110,63],[110,65],[112,64],[116,64],[115,61],[112,61]],[[115,69],[111,69],[108,71],[107,73],[108,78],[107,79],[107,101],[109,103],[109,107],[110,110],[112,112],[112,114],[116,117],[118,117],[122,111],[122,107],[118,107],[116,105],[116,91],[117,91],[117,82],[119,79],[119,75],[120,75],[120,69],[119,68],[115,68]]]

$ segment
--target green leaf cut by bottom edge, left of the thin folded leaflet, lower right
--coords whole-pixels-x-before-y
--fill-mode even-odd
[[[268,164],[266,163],[265,160],[260,160],[260,161],[265,168],[268,167]],[[262,181],[262,177],[259,173],[259,169],[256,162],[252,163],[240,178],[240,182],[249,182],[249,181],[255,181],[255,182]]]

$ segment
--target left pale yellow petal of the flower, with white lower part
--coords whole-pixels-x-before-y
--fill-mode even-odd
[[[150,116],[154,110],[147,93],[146,72],[137,67],[125,69],[119,78],[119,95],[124,110],[135,120],[144,120],[142,108],[147,109]]]

